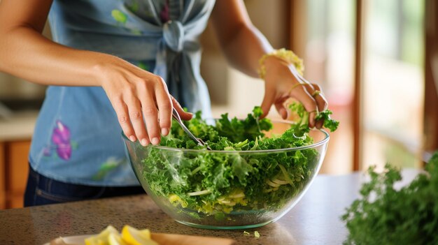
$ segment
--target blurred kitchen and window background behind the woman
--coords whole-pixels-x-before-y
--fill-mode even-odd
[[[434,0],[246,0],[275,48],[304,59],[333,117],[321,173],[342,175],[390,162],[419,168],[438,149],[438,4]],[[50,37],[48,28],[45,36]],[[230,68],[211,26],[202,75],[213,114],[245,117],[260,105],[260,79]],[[0,209],[21,207],[27,152],[45,87],[0,73]],[[271,118],[278,117],[271,110]]]

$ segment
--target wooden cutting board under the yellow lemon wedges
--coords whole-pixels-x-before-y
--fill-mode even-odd
[[[44,245],[84,245],[84,239],[91,235],[58,237]],[[220,237],[201,237],[191,235],[151,233],[152,239],[160,245],[236,245],[236,241]]]

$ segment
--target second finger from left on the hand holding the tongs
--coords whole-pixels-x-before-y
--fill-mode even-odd
[[[141,145],[146,146],[149,144],[148,133],[144,126],[144,121],[141,113],[141,103],[135,96],[127,96],[125,103],[128,107],[129,120],[136,134],[136,138],[139,139]]]

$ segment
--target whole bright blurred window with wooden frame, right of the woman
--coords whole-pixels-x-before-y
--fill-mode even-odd
[[[418,165],[425,0],[309,0],[293,1],[291,8],[292,50],[304,58],[306,79],[323,84],[330,109],[341,121],[331,134],[323,171],[344,173],[386,162]]]

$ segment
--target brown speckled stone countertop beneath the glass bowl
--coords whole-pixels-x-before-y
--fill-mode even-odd
[[[404,170],[409,183],[417,170]],[[125,224],[152,232],[228,237],[238,244],[342,244],[347,230],[339,216],[358,198],[367,177],[360,173],[319,175],[304,198],[283,218],[261,228],[203,230],[177,223],[164,214],[147,195],[108,198],[59,205],[0,211],[0,244],[44,244],[59,236],[95,234],[107,225],[121,230]],[[253,232],[260,232],[255,238]]]

